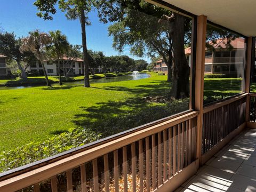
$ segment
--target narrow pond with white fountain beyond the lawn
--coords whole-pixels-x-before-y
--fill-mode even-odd
[[[100,79],[90,79],[90,83],[110,83],[110,82],[119,82],[119,81],[130,81],[130,80],[139,80],[143,78],[148,78],[150,77],[149,74],[143,73],[139,75],[124,75],[124,76],[116,76],[116,77],[105,77],[105,78],[100,78]],[[75,82],[64,82],[63,85],[79,85],[79,84],[84,84],[84,81],[75,81]],[[59,83],[53,83],[54,85],[59,85]],[[38,85],[33,85],[33,86],[14,86],[14,87],[6,87],[6,86],[0,86],[0,90],[11,90],[11,89],[24,89],[24,88],[29,88],[29,87],[36,87]],[[41,85],[42,86],[42,85]]]

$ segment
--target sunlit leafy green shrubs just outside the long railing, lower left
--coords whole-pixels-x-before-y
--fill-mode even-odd
[[[100,134],[90,130],[70,130],[55,135],[44,142],[30,142],[27,145],[0,153],[0,172],[33,163],[63,151],[98,140]]]

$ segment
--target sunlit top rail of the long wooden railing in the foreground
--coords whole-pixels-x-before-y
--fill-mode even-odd
[[[95,158],[98,158],[124,146],[130,145],[135,141],[161,132],[169,127],[187,121],[188,119],[192,119],[197,115],[197,111],[192,111],[188,114],[174,117],[168,121],[133,132],[131,134],[125,135],[124,137],[117,138],[116,140],[112,140],[107,143],[103,143],[102,145],[82,151],[81,153],[77,153],[72,156],[60,159],[59,161],[38,167],[35,170],[31,170],[10,179],[3,180],[0,182],[0,191],[16,191],[21,188],[34,185],[34,183],[44,181],[53,177],[54,175],[65,172],[69,169],[73,169],[74,167],[77,167],[83,163],[90,162]]]

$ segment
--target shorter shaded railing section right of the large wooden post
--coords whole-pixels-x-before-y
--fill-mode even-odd
[[[246,95],[204,108],[202,154],[245,122]]]

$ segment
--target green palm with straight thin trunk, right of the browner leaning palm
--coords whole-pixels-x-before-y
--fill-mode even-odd
[[[60,73],[60,59],[68,52],[69,43],[67,41],[67,36],[61,34],[60,30],[50,31],[50,36],[52,38],[52,44],[46,47],[47,52],[49,53],[52,59],[56,59],[58,62],[58,69],[59,69],[59,79],[60,85],[61,82],[61,73]]]

